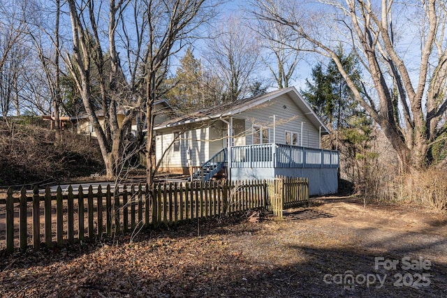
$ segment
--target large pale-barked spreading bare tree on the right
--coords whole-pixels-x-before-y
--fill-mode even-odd
[[[283,10],[277,1],[254,1],[255,14],[304,38],[307,45],[291,44],[296,50],[316,52],[335,62],[358,103],[393,144],[404,170],[447,165],[445,157],[432,158],[434,144],[444,144],[441,150],[446,151],[445,2],[427,0],[411,6],[390,0],[320,2],[316,11],[304,1],[284,1]],[[337,57],[340,43],[351,47],[364,67],[363,90]],[[409,43],[419,46],[409,48]]]

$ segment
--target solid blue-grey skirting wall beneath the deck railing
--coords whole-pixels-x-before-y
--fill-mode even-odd
[[[337,168],[233,168],[232,180],[273,179],[276,176],[303,177],[309,179],[309,195],[328,195],[337,193]]]

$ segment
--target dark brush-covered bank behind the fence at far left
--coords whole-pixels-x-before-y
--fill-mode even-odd
[[[0,187],[64,181],[102,172],[103,162],[94,140],[55,131],[38,119],[0,121]]]

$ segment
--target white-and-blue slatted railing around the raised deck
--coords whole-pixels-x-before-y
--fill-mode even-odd
[[[334,150],[286,144],[256,144],[231,147],[231,167],[339,167]]]

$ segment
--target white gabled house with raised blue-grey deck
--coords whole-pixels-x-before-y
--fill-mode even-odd
[[[338,151],[320,149],[328,128],[294,87],[171,119],[154,131],[162,171],[191,179],[222,172],[229,179],[307,177],[311,195],[337,192]]]

